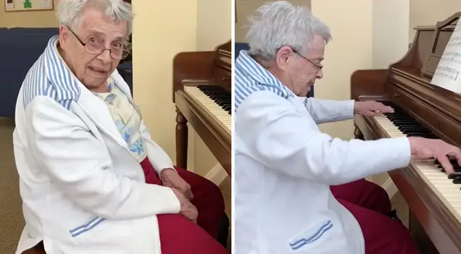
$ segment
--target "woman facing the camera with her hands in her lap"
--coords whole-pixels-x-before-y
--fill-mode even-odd
[[[173,167],[115,69],[129,54],[131,5],[61,0],[58,17],[17,99],[16,253],[227,253],[219,188]]]

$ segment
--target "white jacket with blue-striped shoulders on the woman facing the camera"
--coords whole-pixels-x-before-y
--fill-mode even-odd
[[[47,254],[160,254],[156,214],[178,213],[180,202],[170,188],[145,183],[108,107],[73,76],[57,41],[17,98],[13,144],[26,226],[16,253],[43,240]],[[111,78],[134,105],[119,73]],[[173,168],[141,129],[154,168]]]

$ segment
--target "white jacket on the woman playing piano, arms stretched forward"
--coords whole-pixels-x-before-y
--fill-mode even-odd
[[[333,139],[317,124],[353,118],[353,101],[296,97],[245,52],[235,73],[235,254],[365,253],[330,185],[407,166],[408,139]]]

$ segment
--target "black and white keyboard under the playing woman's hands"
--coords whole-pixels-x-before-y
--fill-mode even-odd
[[[414,118],[394,105],[390,106],[395,109],[394,113],[379,113],[374,116],[374,120],[390,137],[423,136],[437,139],[437,136],[430,132],[430,129],[420,125]],[[453,164],[457,174],[447,176],[437,160],[418,158],[411,160],[411,165],[416,169],[416,173],[428,183],[442,202],[461,220],[461,167],[455,160],[451,160],[451,164]]]

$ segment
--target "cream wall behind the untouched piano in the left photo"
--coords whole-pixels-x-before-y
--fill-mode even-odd
[[[181,8],[177,8],[181,6]],[[231,39],[231,1],[133,0],[133,84],[135,100],[153,139],[175,160],[172,61],[177,52],[214,50]],[[161,39],[159,39],[161,38]],[[189,128],[189,167],[206,176],[217,165]]]

